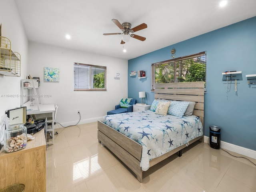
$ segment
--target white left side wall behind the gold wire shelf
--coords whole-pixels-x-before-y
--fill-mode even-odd
[[[21,77],[0,75],[0,116],[5,110],[20,107],[20,79],[26,76],[28,40],[14,0],[0,0],[2,36],[10,39],[12,50],[21,56]]]

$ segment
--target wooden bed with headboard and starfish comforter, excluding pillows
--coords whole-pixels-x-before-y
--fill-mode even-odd
[[[162,116],[146,110],[104,116],[98,121],[98,141],[126,164],[140,182],[143,171],[177,152],[181,156],[181,150],[188,144],[203,141],[204,82],[155,84],[154,98],[196,104],[191,116]],[[153,129],[158,133],[151,132]],[[158,145],[154,146],[154,142]]]

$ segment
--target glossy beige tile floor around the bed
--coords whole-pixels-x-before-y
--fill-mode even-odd
[[[47,192],[256,192],[256,166],[207,143],[153,166],[140,183],[98,142],[97,122],[58,132],[46,149]]]

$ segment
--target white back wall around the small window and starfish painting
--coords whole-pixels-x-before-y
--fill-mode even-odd
[[[74,62],[107,67],[107,91],[74,91]],[[121,98],[128,95],[128,60],[82,51],[71,50],[36,42],[28,44],[28,74],[40,78],[40,94],[43,104],[58,104],[56,122],[64,126],[81,122],[94,122],[114,109]],[[44,67],[60,69],[60,82],[44,82]],[[120,73],[120,80],[115,80]]]

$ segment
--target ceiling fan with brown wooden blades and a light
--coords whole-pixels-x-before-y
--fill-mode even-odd
[[[125,23],[121,24],[116,19],[112,19],[112,22],[114,22],[114,24],[116,24],[116,26],[118,26],[122,30],[122,33],[104,33],[103,35],[121,35],[121,34],[123,34],[121,44],[128,42],[130,40],[130,37],[141,40],[141,41],[146,40],[145,37],[142,37],[142,36],[139,36],[136,34],[130,34],[130,33],[134,33],[138,30],[147,28],[148,27],[147,24],[142,23],[142,24],[131,29],[132,25],[130,23],[125,22]]]

